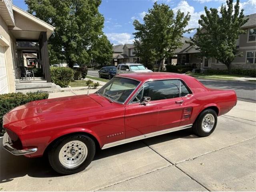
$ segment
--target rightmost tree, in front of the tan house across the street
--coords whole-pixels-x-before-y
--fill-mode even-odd
[[[216,8],[207,9],[201,15],[198,23],[202,26],[197,29],[197,34],[192,40],[192,45],[198,46],[202,56],[214,57],[228,68],[231,72],[231,62],[238,53],[236,41],[240,34],[245,33],[241,27],[247,22],[244,19],[244,10],[239,11],[239,0],[233,5],[233,0],[227,0],[226,6],[222,4],[220,15]]]

